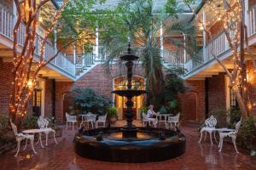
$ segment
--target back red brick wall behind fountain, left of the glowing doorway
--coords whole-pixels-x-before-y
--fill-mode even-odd
[[[136,67],[134,74],[143,76],[143,71]],[[55,116],[57,122],[63,122],[63,100],[64,95],[71,92],[72,88],[92,88],[97,94],[108,96],[112,100],[113,78],[123,75],[123,69],[119,71],[117,65],[112,66],[111,74],[108,74],[104,65],[96,65],[95,68],[86,73],[77,82],[55,83]],[[67,107],[67,106],[65,106]]]

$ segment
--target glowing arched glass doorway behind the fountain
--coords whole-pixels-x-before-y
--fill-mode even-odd
[[[145,89],[145,79],[143,77],[133,76],[131,84],[132,84],[132,89]],[[113,90],[126,89],[126,87],[127,87],[126,77],[113,78]],[[140,119],[140,109],[143,106],[144,99],[145,99],[144,94],[132,98],[132,101],[134,103],[132,109],[134,113],[136,113],[133,119]],[[120,120],[125,119],[125,111],[126,111],[125,102],[126,102],[125,97],[119,96],[117,94],[113,94],[113,104],[119,111]]]

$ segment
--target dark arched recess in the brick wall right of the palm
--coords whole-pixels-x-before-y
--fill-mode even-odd
[[[197,94],[188,92],[183,94],[183,121],[196,122],[197,120]]]

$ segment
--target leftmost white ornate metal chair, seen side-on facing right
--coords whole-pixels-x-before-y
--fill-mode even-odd
[[[20,142],[24,139],[30,140],[31,148],[32,148],[34,154],[37,154],[37,152],[34,148],[34,135],[18,133],[17,127],[15,126],[15,124],[13,122],[10,122],[10,123],[11,123],[11,127],[15,133],[15,137],[16,137],[16,141],[17,141],[17,152],[16,152],[15,156],[18,156],[19,151],[20,151]]]

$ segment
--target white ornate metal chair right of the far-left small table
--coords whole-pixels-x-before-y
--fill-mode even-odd
[[[49,125],[49,121],[47,119],[45,119],[44,116],[39,116],[39,118],[38,118],[38,127],[40,129],[44,130],[43,132],[45,133],[45,136],[46,136],[45,145],[46,146],[48,145],[48,135],[49,135],[49,133],[53,133],[55,144],[58,144],[56,139],[55,139],[55,130],[48,127],[48,125]]]

